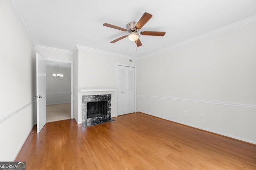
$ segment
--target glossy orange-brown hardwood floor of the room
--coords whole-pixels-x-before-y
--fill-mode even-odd
[[[132,113],[83,127],[74,119],[46,123],[28,136],[16,161],[27,170],[256,169],[256,146]]]

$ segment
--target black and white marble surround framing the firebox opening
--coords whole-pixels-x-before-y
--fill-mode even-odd
[[[107,114],[87,119],[87,103],[101,101],[107,101]],[[107,122],[111,120],[111,94],[82,96],[82,125],[94,125],[97,124],[95,122]]]

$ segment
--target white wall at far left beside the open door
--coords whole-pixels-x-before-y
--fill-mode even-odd
[[[13,161],[34,125],[36,53],[7,0],[0,25],[0,161]]]

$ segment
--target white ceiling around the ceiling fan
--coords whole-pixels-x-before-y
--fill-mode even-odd
[[[36,46],[73,51],[89,49],[143,57],[230,24],[256,18],[256,0],[9,0]],[[166,31],[164,37],[141,35],[141,47],[126,29],[148,12],[153,17],[140,31]]]

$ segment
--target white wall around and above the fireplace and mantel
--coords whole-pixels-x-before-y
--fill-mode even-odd
[[[79,61],[79,62],[78,62]],[[129,61],[127,57],[119,57],[112,54],[104,54],[94,51],[88,51],[86,49],[78,49],[77,61],[74,65],[78,66],[78,84],[76,98],[77,109],[74,113],[74,117],[78,123],[82,123],[82,96],[84,95],[99,95],[99,94],[111,94],[111,116],[117,115],[117,93],[116,91],[110,92],[79,92],[79,89],[102,89],[102,88],[115,88],[116,89],[116,64],[129,64],[137,65],[136,60]],[[75,95],[74,95],[75,96]],[[75,115],[76,114],[76,115]]]

